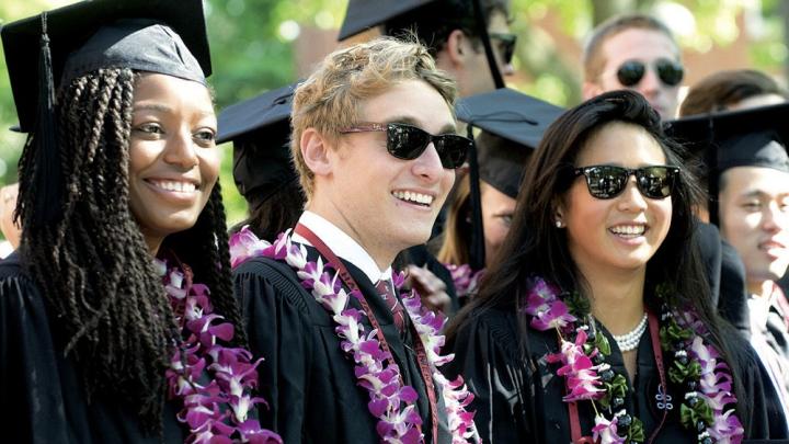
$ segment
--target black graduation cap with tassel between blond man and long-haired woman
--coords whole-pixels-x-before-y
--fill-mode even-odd
[[[504,88],[461,99],[455,105],[455,111],[458,119],[468,124],[469,138],[473,127],[483,130],[471,148],[473,152],[469,153],[473,225],[469,255],[471,267],[480,270],[484,266],[484,235],[479,180],[482,179],[511,197],[517,196],[526,157],[537,149],[542,134],[564,109]],[[506,139],[510,144],[480,144],[491,140],[487,134]]]

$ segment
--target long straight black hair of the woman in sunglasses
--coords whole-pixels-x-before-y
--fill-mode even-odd
[[[696,179],[682,168],[679,153],[683,148],[664,135],[658,113],[632,91],[598,95],[568,111],[548,128],[528,164],[506,240],[487,271],[488,277],[482,281],[479,295],[449,326],[448,340],[451,342],[464,323],[485,309],[498,307],[523,312],[521,296],[531,276],[541,276],[567,292],[585,294],[586,280],[570,254],[565,230],[554,226],[556,210],[574,179],[571,172],[579,152],[595,132],[613,122],[643,128],[661,146],[666,163],[681,167],[672,194],[671,228],[647,264],[644,303],[654,312],[660,312],[654,297],[655,287],[662,283],[671,284],[676,292],[674,303],[677,308],[690,307],[696,312],[709,330],[709,341],[732,364],[735,395],[737,399],[745,400],[736,363],[746,352],[739,343],[723,340],[736,333],[718,317],[711,304],[709,284],[694,236],[697,221],[693,206],[700,202],[699,186]],[[521,325],[524,327],[522,338],[526,338],[524,319]],[[522,343],[523,348],[527,346],[527,341],[522,340]],[[745,430],[748,430],[746,402],[737,402],[737,411]]]

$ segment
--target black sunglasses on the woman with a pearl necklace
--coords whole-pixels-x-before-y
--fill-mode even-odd
[[[652,166],[636,169],[599,164],[576,168],[575,178],[584,175],[590,194],[597,198],[614,198],[621,194],[628,180],[636,174],[636,185],[649,198],[666,198],[674,191],[678,167]]]

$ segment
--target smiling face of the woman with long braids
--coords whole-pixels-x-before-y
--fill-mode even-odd
[[[151,252],[191,228],[219,175],[217,121],[208,89],[159,73],[135,82],[129,206]]]

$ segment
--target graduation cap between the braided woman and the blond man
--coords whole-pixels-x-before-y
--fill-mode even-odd
[[[290,110],[298,83],[267,91],[219,113],[217,141],[233,143],[233,180],[252,208],[298,174],[290,161]]]

